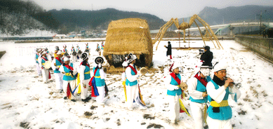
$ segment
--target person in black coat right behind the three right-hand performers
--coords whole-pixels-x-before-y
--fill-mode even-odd
[[[202,66],[213,67],[213,64],[211,64],[211,61],[213,60],[213,53],[211,52],[209,46],[205,46],[205,53],[201,55],[200,60],[203,61]]]

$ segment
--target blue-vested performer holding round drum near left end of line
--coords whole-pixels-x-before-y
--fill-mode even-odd
[[[45,68],[45,63],[48,61],[48,58],[46,57],[46,51],[43,51],[41,53],[41,61],[39,62],[41,67],[41,74],[43,76],[44,83],[48,83],[48,79],[51,79],[51,73],[49,72],[49,69]]]

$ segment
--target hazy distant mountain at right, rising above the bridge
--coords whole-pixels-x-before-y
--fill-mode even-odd
[[[260,11],[262,11],[262,21],[273,21],[273,6],[230,6],[222,9],[205,7],[198,15],[208,25],[221,25],[230,22],[260,21]],[[184,18],[185,21],[187,19]],[[182,18],[179,21],[182,22]]]

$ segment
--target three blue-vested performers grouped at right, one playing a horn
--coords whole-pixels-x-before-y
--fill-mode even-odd
[[[175,63],[172,64],[171,74],[168,74],[165,79],[165,86],[168,90],[167,95],[170,99],[170,120],[172,123],[179,121],[180,109],[183,109],[179,102],[183,92],[180,88],[182,81],[179,68]],[[210,129],[231,129],[232,109],[229,107],[227,100],[231,95],[232,99],[237,102],[241,93],[239,88],[234,86],[233,80],[226,77],[227,62],[222,61],[215,64],[213,79],[210,76],[212,68],[208,66],[197,67],[194,76],[187,81],[191,116],[194,118],[195,123],[194,128],[204,128],[204,124],[207,123]]]

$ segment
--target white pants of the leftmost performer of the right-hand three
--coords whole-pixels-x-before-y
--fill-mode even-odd
[[[180,118],[180,105],[179,105],[179,99],[181,98],[181,95],[168,95],[168,107],[170,108],[170,120],[178,120]]]

